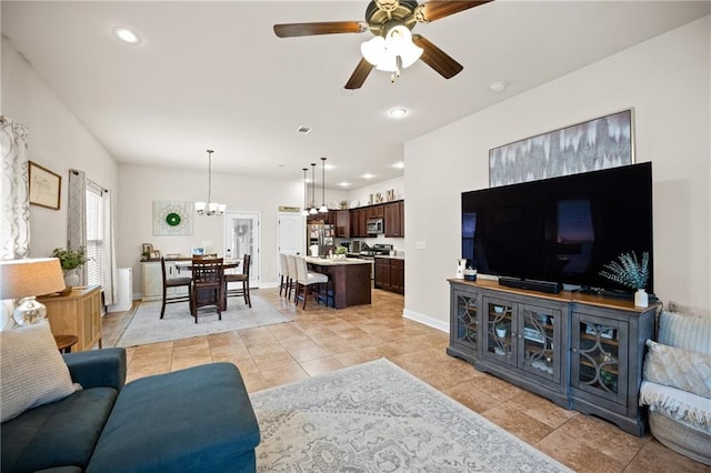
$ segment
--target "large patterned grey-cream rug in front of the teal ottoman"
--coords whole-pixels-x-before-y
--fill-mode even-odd
[[[569,472],[385,359],[251,395],[260,472]]]

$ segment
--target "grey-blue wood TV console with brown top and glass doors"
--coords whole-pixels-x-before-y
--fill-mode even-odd
[[[447,353],[565,409],[594,414],[634,435],[644,342],[658,304],[562,292],[544,294],[494,281],[450,280]]]

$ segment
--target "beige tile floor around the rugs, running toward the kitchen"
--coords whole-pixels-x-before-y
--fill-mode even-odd
[[[303,311],[278,289],[253,293],[293,322],[130,348],[128,381],[228,361],[256,392],[384,356],[575,471],[711,472],[649,435],[629,435],[448,356],[448,334],[402,318],[401,295],[373,290],[372,305],[337,311],[308,303]],[[116,343],[130,314],[103,318],[104,346]]]

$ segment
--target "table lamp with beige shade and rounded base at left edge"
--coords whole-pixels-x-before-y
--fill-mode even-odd
[[[64,289],[57,258],[0,261],[0,300],[14,299],[12,318],[28,325],[47,318],[47,308],[34,298]]]

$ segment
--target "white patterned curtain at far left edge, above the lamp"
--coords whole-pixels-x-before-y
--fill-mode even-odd
[[[30,255],[30,200],[28,191],[28,128],[0,117],[2,181],[0,182],[0,260]]]

